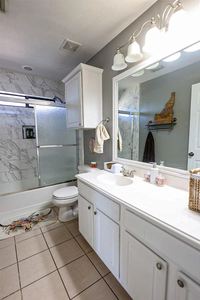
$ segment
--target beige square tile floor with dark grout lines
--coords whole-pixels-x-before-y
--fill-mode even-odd
[[[80,234],[78,220],[57,221],[0,246],[0,299],[132,299]]]

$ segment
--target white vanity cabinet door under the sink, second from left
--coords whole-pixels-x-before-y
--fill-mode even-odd
[[[94,212],[94,245],[98,256],[119,278],[119,225],[98,209]]]

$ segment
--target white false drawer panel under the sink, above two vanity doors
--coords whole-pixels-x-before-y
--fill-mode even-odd
[[[97,205],[98,209],[111,219],[116,221],[120,220],[120,205],[118,203],[115,203],[80,181],[78,181],[78,194],[92,202],[94,205]]]

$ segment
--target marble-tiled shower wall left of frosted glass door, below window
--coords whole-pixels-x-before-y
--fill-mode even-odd
[[[22,133],[22,126],[33,126],[32,120],[33,108],[0,106],[1,183],[38,178],[36,140],[24,139]]]

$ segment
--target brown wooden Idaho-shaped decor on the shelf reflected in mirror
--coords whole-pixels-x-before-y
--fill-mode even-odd
[[[174,98],[175,98],[175,92],[171,94],[171,98],[169,99],[168,103],[165,104],[165,108],[163,108],[162,112],[155,114],[155,119],[154,119],[155,125],[172,123],[172,119],[173,119],[172,107],[174,105]]]

